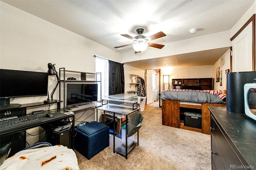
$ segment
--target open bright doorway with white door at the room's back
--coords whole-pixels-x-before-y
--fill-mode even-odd
[[[160,69],[146,70],[146,105],[160,107]]]

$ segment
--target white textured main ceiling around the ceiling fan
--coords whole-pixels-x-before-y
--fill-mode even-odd
[[[153,40],[152,43],[165,44],[223,32],[230,30],[254,2],[254,0],[1,1],[120,53],[133,51],[132,46],[114,48],[132,43],[132,40],[120,34],[134,37],[137,35],[136,28],[144,28],[145,32],[142,35],[148,37],[162,31],[166,36]],[[190,34],[191,28],[198,28],[198,32]],[[191,54],[190,57],[193,55]],[[157,59],[156,62],[161,60]]]

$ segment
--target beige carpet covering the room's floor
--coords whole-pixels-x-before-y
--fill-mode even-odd
[[[139,146],[124,156],[113,153],[110,146],[90,160],[76,152],[80,170],[210,170],[210,135],[162,125],[162,108],[146,106],[141,112],[143,126],[139,130]],[[137,134],[135,134],[137,141]],[[116,148],[121,138],[116,137]]]

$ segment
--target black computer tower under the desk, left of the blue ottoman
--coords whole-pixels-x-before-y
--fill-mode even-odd
[[[49,142],[52,145],[63,145],[68,148],[71,147],[70,128],[71,124],[62,121],[50,123],[42,126],[46,133],[44,134],[44,141]]]

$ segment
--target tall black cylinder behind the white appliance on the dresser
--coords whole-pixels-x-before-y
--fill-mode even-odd
[[[244,112],[244,84],[256,82],[256,71],[227,74],[226,109],[230,112]]]

